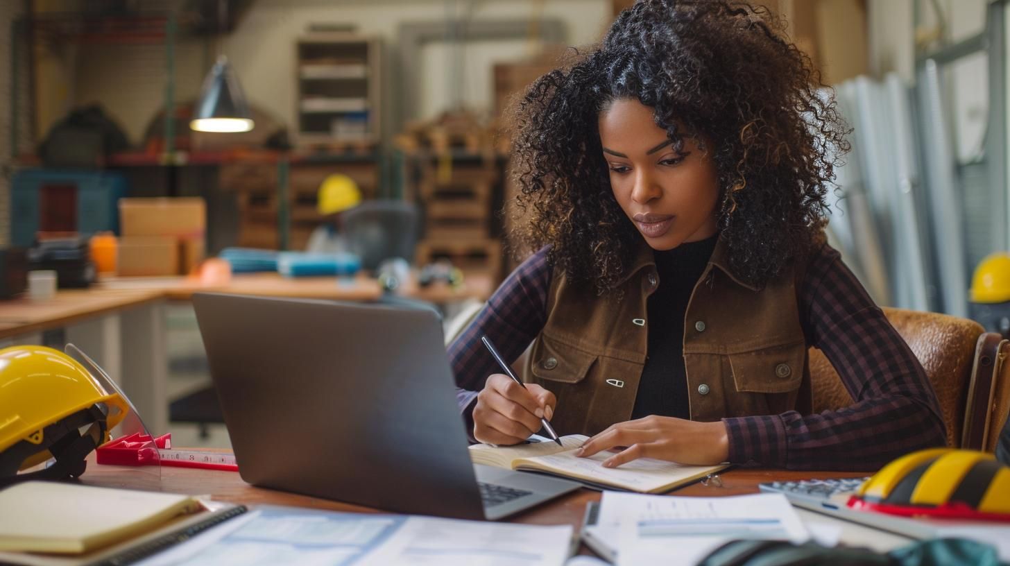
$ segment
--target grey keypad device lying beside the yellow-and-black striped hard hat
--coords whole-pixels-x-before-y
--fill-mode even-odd
[[[868,479],[870,478],[773,481],[759,484],[759,488],[766,493],[782,493],[790,503],[798,507],[844,521],[913,539],[930,539],[935,536],[935,527],[922,521],[850,508],[847,505],[848,498],[855,495],[860,486]]]

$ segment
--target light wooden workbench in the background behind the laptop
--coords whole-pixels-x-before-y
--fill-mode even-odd
[[[372,301],[382,295],[379,283],[364,275],[337,280],[238,274],[222,286],[200,285],[184,277],[111,278],[89,289],[60,290],[47,301],[0,301],[0,341],[41,344],[38,333],[66,328],[66,341],[116,379],[147,426],[163,434],[169,429],[163,304],[167,299],[188,301],[199,291],[345,301]],[[408,297],[442,304],[466,298],[483,301],[493,291],[493,280],[483,274],[467,275],[460,288],[444,283],[420,288],[413,282],[404,288]]]

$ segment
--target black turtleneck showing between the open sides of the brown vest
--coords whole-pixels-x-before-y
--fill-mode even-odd
[[[684,316],[717,240],[713,235],[653,252],[660,285],[648,297],[648,355],[631,418],[691,415],[684,369]]]

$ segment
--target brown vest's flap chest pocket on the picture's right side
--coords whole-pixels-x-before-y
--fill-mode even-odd
[[[806,346],[800,342],[730,354],[733,385],[739,392],[789,393],[803,381]]]

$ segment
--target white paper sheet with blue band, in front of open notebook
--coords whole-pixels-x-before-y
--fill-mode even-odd
[[[804,543],[810,538],[780,493],[670,497],[605,491],[599,524],[619,525],[619,566],[696,564],[734,539]]]

